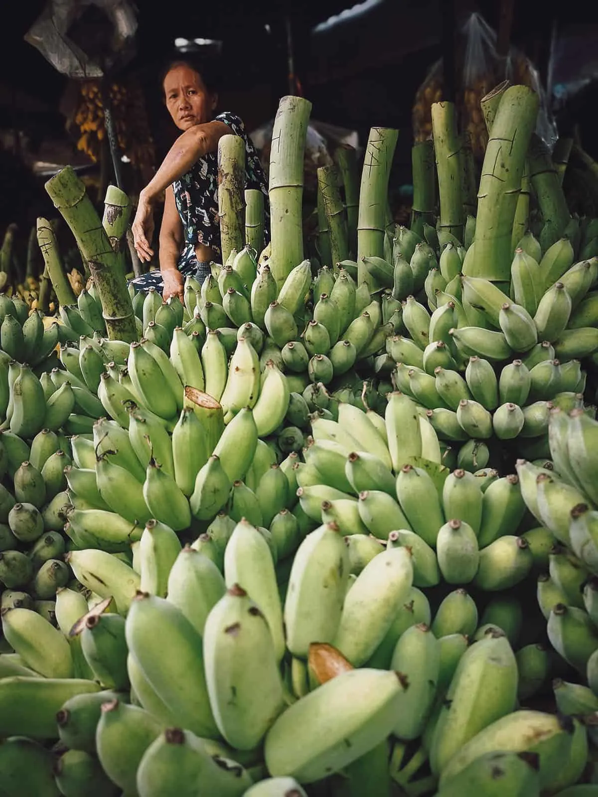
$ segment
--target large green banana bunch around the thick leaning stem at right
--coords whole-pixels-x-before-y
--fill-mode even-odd
[[[399,331],[374,360],[380,389],[395,387],[418,402],[447,465],[502,470],[505,453],[513,463],[549,457],[549,411],[583,406],[581,363],[592,363],[598,350],[598,293],[591,290],[598,258],[574,264],[568,238],[542,255],[528,233],[515,251],[510,284],[499,286],[462,275],[469,249],[456,242],[449,240],[437,261],[429,229],[432,245],[399,230],[394,265],[365,258],[386,286],[383,312],[394,308]]]

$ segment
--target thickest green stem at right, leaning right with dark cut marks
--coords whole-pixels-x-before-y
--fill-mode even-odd
[[[513,221],[537,109],[538,96],[527,86],[502,95],[482,166],[474,256],[463,269],[470,277],[510,279]]]

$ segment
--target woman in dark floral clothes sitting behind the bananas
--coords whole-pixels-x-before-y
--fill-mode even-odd
[[[258,153],[242,120],[230,112],[214,116],[218,94],[205,65],[191,59],[174,61],[163,73],[162,87],[167,110],[182,132],[141,191],[132,224],[136,252],[141,261],[149,262],[154,255],[154,206],[165,191],[159,272],[143,274],[132,280],[132,285],[144,292],[153,286],[163,300],[179,296],[183,301],[185,277],[192,274],[203,282],[210,273],[210,261],[221,253],[217,153],[222,135],[234,133],[245,141],[246,188],[262,190],[266,199],[268,190]]]

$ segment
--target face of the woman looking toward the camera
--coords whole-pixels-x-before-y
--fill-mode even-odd
[[[201,75],[189,66],[175,66],[164,78],[166,107],[179,130],[209,122],[217,96],[208,92]]]

